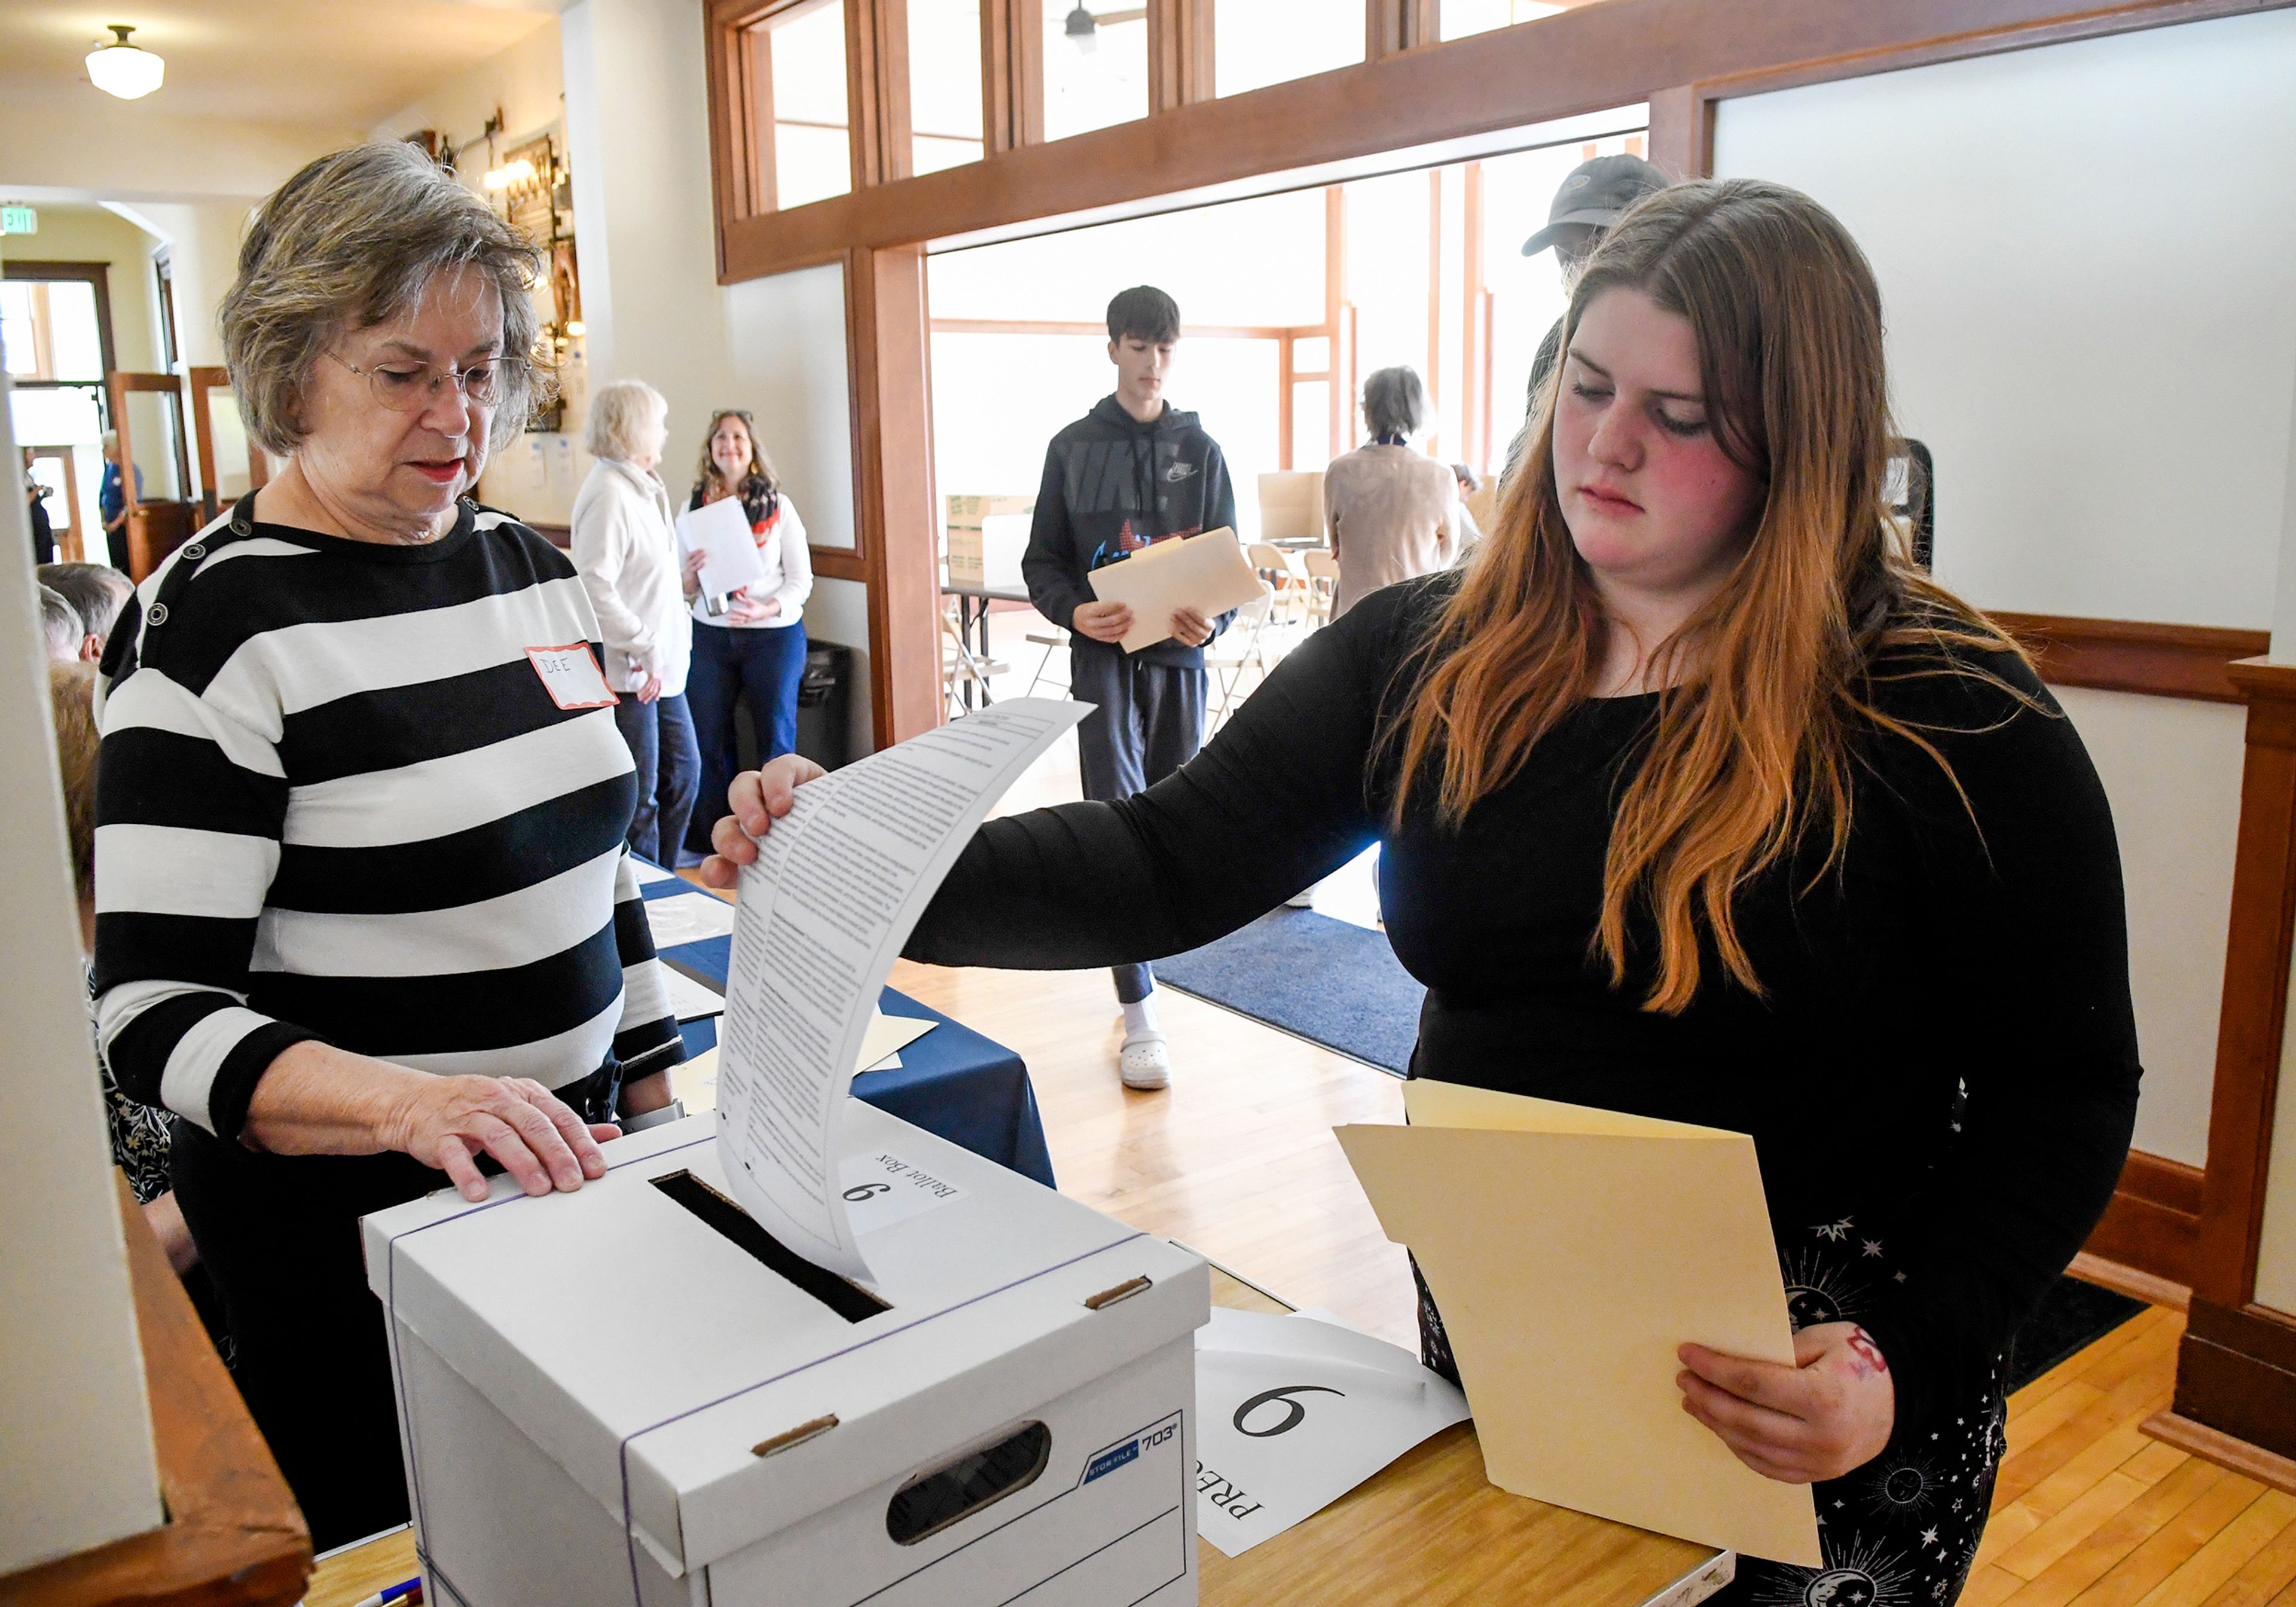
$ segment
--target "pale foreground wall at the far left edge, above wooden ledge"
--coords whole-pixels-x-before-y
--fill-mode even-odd
[[[163,1517],[80,983],[21,466],[0,406],[0,1575]]]

